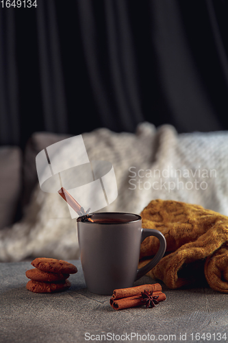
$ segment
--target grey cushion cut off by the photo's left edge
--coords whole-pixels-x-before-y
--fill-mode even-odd
[[[14,222],[21,192],[22,154],[19,147],[0,147],[0,229]]]

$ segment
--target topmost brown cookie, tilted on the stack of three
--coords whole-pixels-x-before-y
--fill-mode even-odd
[[[46,257],[38,257],[31,262],[35,268],[44,272],[75,274],[77,268],[72,263],[62,261],[61,259],[48,259]]]

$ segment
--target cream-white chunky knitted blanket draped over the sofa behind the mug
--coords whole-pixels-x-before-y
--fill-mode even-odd
[[[101,128],[82,135],[88,157],[114,166],[118,197],[102,211],[140,213],[153,199],[201,204],[228,215],[228,132],[177,134],[141,123],[136,134]],[[71,145],[64,154],[73,154]],[[96,201],[96,194],[90,195]],[[54,193],[36,187],[21,222],[0,231],[0,261],[79,258],[77,222]]]

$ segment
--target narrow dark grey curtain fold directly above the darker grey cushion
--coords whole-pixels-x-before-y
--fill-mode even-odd
[[[65,133],[68,131],[66,97],[53,0],[39,1],[37,31],[45,130]]]

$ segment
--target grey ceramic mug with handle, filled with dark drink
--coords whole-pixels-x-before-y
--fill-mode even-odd
[[[166,239],[158,230],[142,228],[142,218],[133,213],[93,213],[92,222],[77,219],[81,265],[88,290],[111,295],[114,289],[132,287],[162,259]],[[140,244],[149,237],[160,240],[153,259],[138,270]]]

